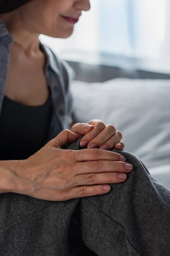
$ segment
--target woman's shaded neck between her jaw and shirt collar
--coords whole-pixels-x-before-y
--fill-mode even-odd
[[[8,32],[14,38],[14,44],[19,45],[27,53],[38,52],[39,49],[39,34],[29,31],[22,19],[16,17],[17,15],[14,12],[9,14],[1,15],[1,19],[5,24]]]

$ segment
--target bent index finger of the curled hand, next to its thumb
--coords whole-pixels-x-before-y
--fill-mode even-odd
[[[86,145],[88,145],[88,143],[91,140],[93,140],[105,128],[106,128],[106,126],[103,122],[97,122],[94,126],[94,129],[92,131],[88,132],[88,134],[85,134],[85,136],[82,138],[82,140],[80,141],[80,146],[83,148]]]

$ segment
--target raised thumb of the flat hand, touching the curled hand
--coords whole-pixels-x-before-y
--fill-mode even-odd
[[[69,130],[61,131],[53,140],[49,141],[46,145],[53,146],[55,148],[62,148],[67,143],[73,143],[76,140],[79,140],[81,134],[74,134]]]

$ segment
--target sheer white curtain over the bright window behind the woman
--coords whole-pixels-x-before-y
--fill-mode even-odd
[[[91,0],[70,38],[41,40],[70,59],[86,52],[170,58],[169,27],[170,0]]]

